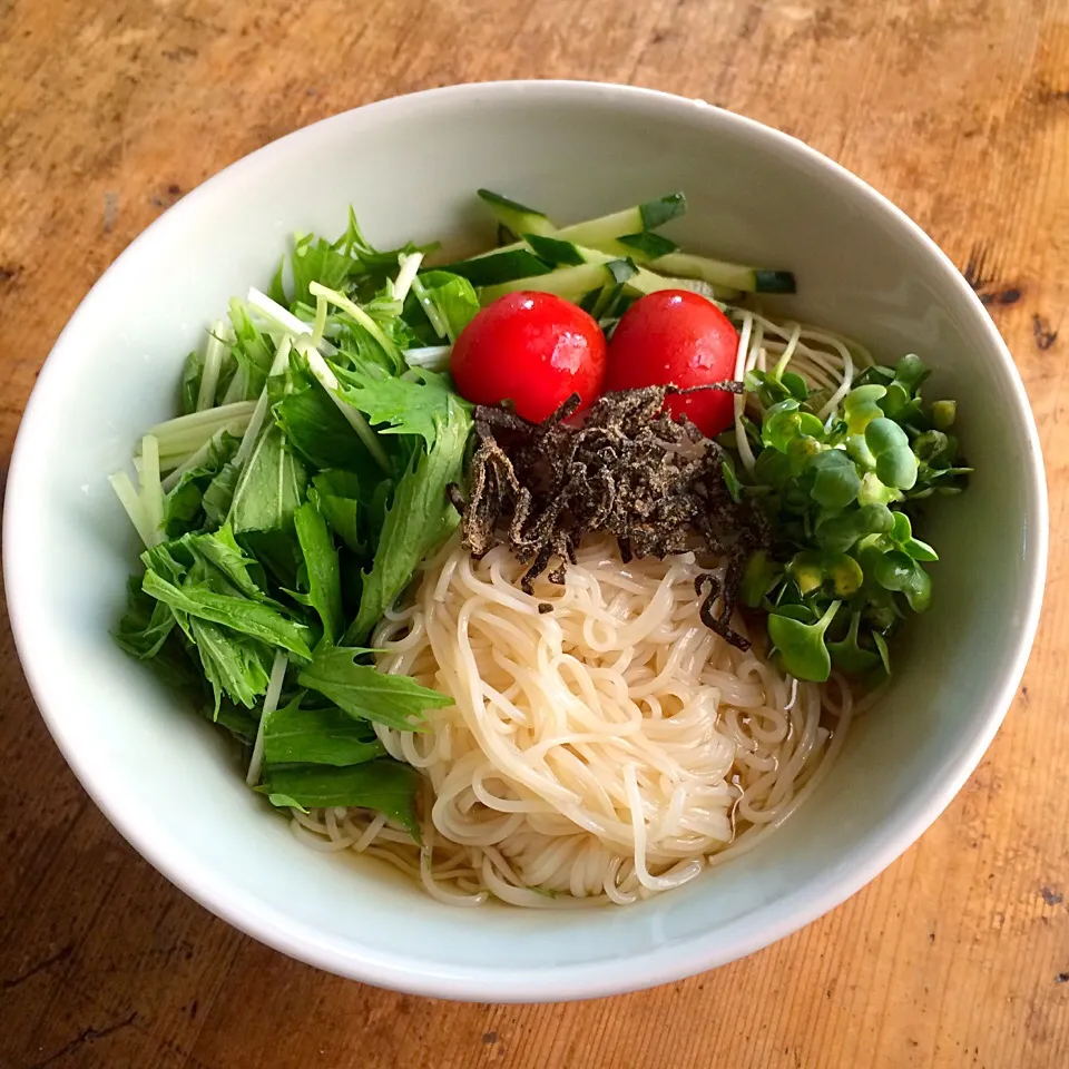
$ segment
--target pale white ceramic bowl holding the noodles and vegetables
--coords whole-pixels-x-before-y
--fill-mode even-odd
[[[776,835],[626,909],[441,905],[374,862],[313,853],[246,787],[210,726],[109,638],[134,560],[106,475],[171,412],[185,353],[232,294],[264,285],[294,229],[489,239],[473,190],[572,220],[674,189],[699,251],[793,268],[808,320],[885,360],[918,352],[959,400],[977,475],[933,510],[935,604],[886,700]],[[783,304],[787,306],[786,302]],[[371,105],[268,145],[141,235],[49,356],[8,481],[3,565],[19,653],[71,767],[116,827],[219,916],[295,958],[406,991],[600,996],[748,954],[853,894],[975,767],[1039,614],[1047,504],[1021,381],[979,301],[900,210],[804,145],[646,90],[506,82]]]

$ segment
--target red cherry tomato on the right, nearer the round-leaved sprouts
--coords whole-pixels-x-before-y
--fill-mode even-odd
[[[606,391],[638,386],[702,386],[735,374],[738,333],[712,301],[689,290],[660,290],[636,301],[612,334]],[[706,438],[734,419],[734,395],[706,390],[673,396],[665,408],[686,415]]]

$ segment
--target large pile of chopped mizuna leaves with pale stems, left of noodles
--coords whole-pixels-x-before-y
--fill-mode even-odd
[[[426,330],[438,342],[429,316],[455,339],[479,301],[450,272],[411,282],[419,259],[409,257],[428,248],[380,252],[350,213],[336,242],[297,237],[269,297],[231,302],[229,325],[216,323],[186,363],[188,419],[153,429],[178,468],[164,501],[168,540],[143,555],[116,632],[244,744],[263,719],[273,801],[376,807],[415,835],[419,777],[384,756],[371,720],[418,725],[449,699],[333,644],[361,614],[370,630],[457,522],[445,486],[461,474],[467,405],[447,376],[410,372],[404,352]],[[410,288],[422,301],[405,303]],[[306,663],[302,686],[313,689],[294,695],[291,680],[288,704],[275,708],[272,696],[261,714],[283,651],[293,676]]]

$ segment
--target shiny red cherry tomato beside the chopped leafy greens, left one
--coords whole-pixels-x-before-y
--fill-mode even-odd
[[[450,370],[461,396],[475,404],[511,400],[540,422],[573,393],[586,408],[601,392],[606,342],[601,327],[551,293],[510,293],[461,332]]]

